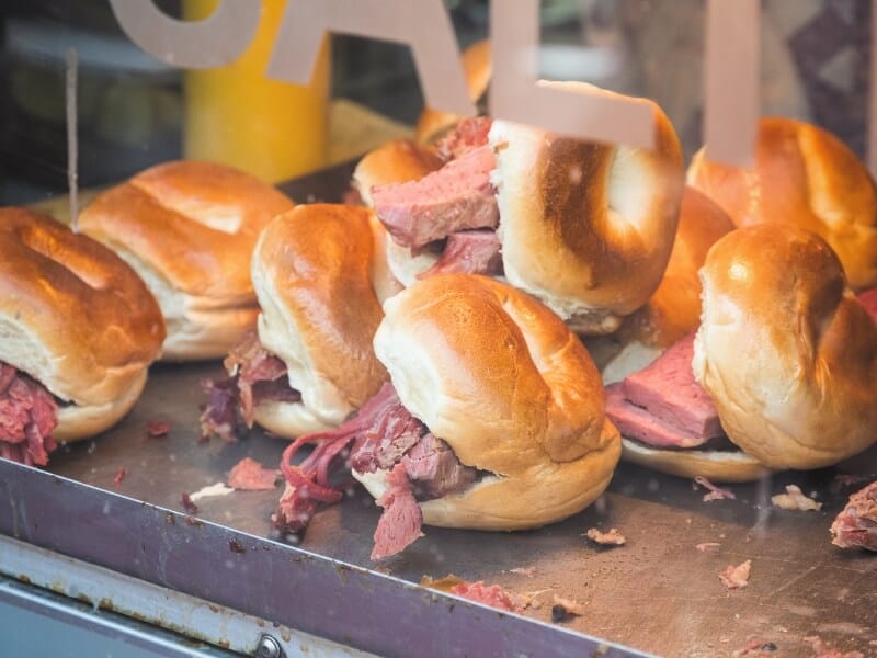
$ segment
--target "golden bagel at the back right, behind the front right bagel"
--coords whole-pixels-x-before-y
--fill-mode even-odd
[[[789,118],[762,118],[751,168],[707,160],[701,150],[687,180],[737,226],[766,222],[820,235],[840,257],[853,290],[877,285],[874,179],[827,131]]]

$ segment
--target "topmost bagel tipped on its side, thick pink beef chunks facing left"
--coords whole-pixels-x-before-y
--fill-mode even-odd
[[[583,82],[549,84],[618,95]],[[447,258],[455,237],[485,236],[488,229],[498,238],[497,261],[509,283],[580,333],[616,330],[661,281],[684,178],[669,120],[651,101],[637,101],[652,111],[654,149],[582,141],[496,118],[460,122],[440,144],[449,151],[441,170],[372,190],[376,214],[388,227],[394,275],[405,285],[437,272],[493,275],[493,265],[469,269],[466,254],[463,269]],[[424,225],[447,225],[452,232],[437,236],[436,229],[424,248],[430,238],[422,236],[433,232]],[[420,241],[409,242],[409,235]],[[441,243],[436,236],[447,238],[441,253],[431,248]]]

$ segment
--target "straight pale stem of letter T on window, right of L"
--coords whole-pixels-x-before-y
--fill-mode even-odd
[[[709,0],[704,63],[704,157],[751,167],[759,114],[760,0]]]

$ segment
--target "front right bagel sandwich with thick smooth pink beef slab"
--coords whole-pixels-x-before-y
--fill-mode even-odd
[[[624,458],[743,481],[877,442],[877,322],[825,240],[739,228],[709,250],[701,280],[696,332],[607,387]]]

